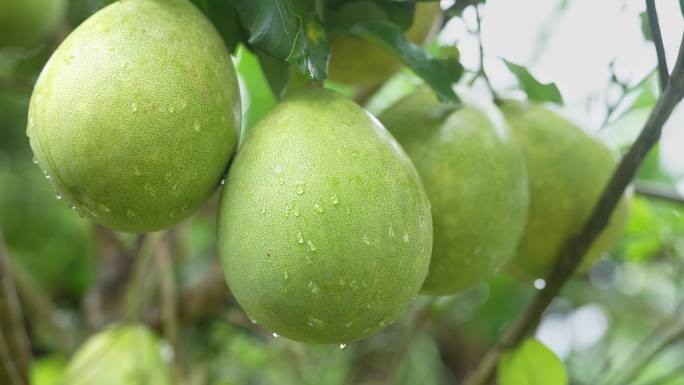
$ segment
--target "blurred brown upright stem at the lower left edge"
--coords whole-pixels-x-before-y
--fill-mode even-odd
[[[5,337],[7,352],[16,368],[19,383],[28,385],[31,344],[12,279],[9,255],[2,232],[0,232],[0,331]]]

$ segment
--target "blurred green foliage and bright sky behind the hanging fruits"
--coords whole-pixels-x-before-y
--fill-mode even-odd
[[[49,41],[0,50],[0,228],[29,326],[35,385],[62,384],[75,349],[115,321],[154,329],[163,359],[184,384],[452,384],[543,286],[502,275],[455,296],[420,297],[399,322],[350,346],[308,346],[253,324],[230,296],[216,259],[215,199],[173,229],[147,236],[112,233],[79,218],[56,199],[33,164],[26,115],[32,84],[52,50],[107,3],[72,0]],[[658,3],[661,15],[679,16],[665,3]],[[462,83],[481,66],[481,41],[498,92],[517,95],[521,88],[503,57],[557,82],[567,113],[615,151],[631,143],[658,94],[655,55],[641,28],[643,2],[469,4],[443,1],[451,11],[428,44],[432,52],[459,48],[466,69]],[[682,23],[662,23],[670,47]],[[516,44],[518,51],[510,47]],[[605,52],[606,45],[614,49]],[[254,53],[240,46],[234,60],[243,86],[244,137],[277,97]],[[480,83],[473,88],[486,92]],[[374,113],[417,84],[408,70],[372,96],[327,83]],[[682,122],[684,114],[675,113],[660,149],[641,168],[622,240],[588,274],[571,281],[538,329],[537,338],[564,362],[573,384],[620,384],[633,369],[628,383],[684,384]],[[162,315],[169,306],[160,290],[165,271],[176,282],[178,325],[165,323]]]

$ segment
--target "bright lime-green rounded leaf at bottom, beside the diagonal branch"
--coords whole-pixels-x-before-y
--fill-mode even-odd
[[[528,338],[515,350],[501,354],[499,385],[567,385],[563,363],[544,344]]]

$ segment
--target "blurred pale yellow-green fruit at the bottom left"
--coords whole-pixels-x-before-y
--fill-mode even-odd
[[[171,385],[157,338],[144,326],[110,327],[90,337],[64,373],[69,385]]]

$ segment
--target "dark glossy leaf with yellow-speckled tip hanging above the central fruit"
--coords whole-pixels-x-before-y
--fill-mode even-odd
[[[292,0],[240,0],[234,4],[253,48],[296,66],[309,80],[328,76],[330,44],[313,9]]]

